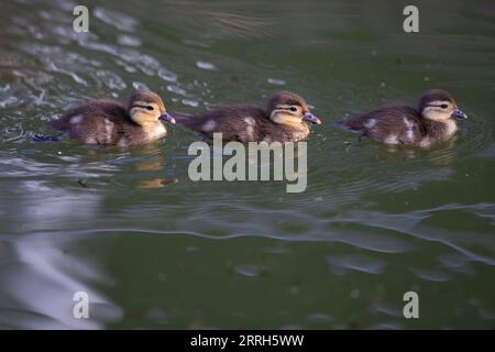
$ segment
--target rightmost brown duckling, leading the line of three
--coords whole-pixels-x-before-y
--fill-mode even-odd
[[[453,118],[468,119],[453,98],[441,89],[427,90],[419,99],[418,110],[408,106],[386,106],[342,124],[362,132],[362,136],[386,144],[429,147],[449,140],[458,130]]]

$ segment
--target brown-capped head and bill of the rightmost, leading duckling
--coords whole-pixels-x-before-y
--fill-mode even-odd
[[[425,119],[447,122],[451,118],[468,119],[453,98],[444,90],[427,90],[419,99],[419,111]]]

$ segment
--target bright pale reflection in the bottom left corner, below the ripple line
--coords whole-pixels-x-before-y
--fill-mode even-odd
[[[9,262],[0,275],[3,329],[97,329],[122,318],[121,308],[87,286],[87,282],[96,285],[108,279],[100,267],[90,265],[90,258],[77,260],[64,245],[54,246],[35,237],[6,248]],[[77,292],[89,295],[91,319],[73,317]]]

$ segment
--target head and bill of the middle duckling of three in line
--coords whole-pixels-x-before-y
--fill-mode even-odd
[[[273,122],[289,127],[306,122],[321,123],[320,119],[309,112],[306,101],[294,92],[282,91],[273,96],[268,100],[266,111]]]

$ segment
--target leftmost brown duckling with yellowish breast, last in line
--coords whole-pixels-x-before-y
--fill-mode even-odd
[[[85,144],[130,146],[163,139],[161,122],[175,123],[158,95],[140,90],[124,107],[113,100],[92,100],[67,111],[52,125]]]

